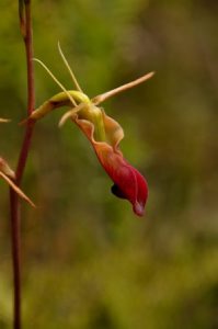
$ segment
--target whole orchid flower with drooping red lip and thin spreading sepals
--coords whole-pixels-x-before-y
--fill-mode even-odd
[[[57,107],[62,105],[69,106],[70,110],[64,114],[59,126],[62,126],[68,118],[79,126],[90,140],[100,163],[114,182],[112,186],[113,194],[128,200],[133,205],[134,213],[138,216],[142,216],[148,197],[147,181],[137,169],[127,162],[119,150],[119,143],[124,138],[123,128],[97,105],[112,95],[148,80],[153,76],[153,72],[90,99],[81,90],[59,45],[58,47],[77,90],[66,90],[41,60],[34,59],[48,71],[56,83],[62,89],[62,92],[57,93],[36,109],[27,121],[34,123]]]

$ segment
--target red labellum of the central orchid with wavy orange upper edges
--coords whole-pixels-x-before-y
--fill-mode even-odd
[[[126,161],[118,149],[124,137],[122,127],[104,112],[102,113],[105,141],[95,140],[94,124],[90,121],[80,118],[79,114],[73,121],[91,141],[102,167],[113,180],[112,193],[117,197],[128,200],[133,205],[134,213],[142,216],[148,197],[147,182],[140,172]]]

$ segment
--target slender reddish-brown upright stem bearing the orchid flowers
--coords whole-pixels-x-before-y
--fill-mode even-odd
[[[34,111],[35,87],[33,68],[33,37],[32,37],[32,14],[31,0],[19,0],[20,26],[25,44],[26,67],[27,67],[27,115]],[[23,143],[20,149],[15,183],[20,186],[24,173],[34,125],[27,123]],[[13,260],[13,328],[21,329],[21,230],[20,230],[20,204],[16,193],[10,189],[10,217],[11,217],[11,241]]]

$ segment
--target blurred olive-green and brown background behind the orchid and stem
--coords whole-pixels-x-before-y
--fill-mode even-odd
[[[26,107],[18,1],[1,0],[0,154],[14,168]],[[23,324],[46,329],[218,328],[218,2],[35,0],[35,56],[72,88],[61,47],[93,97],[154,70],[105,102],[122,150],[149,183],[146,216],[112,185],[64,110],[36,126],[22,203]],[[37,105],[58,92],[35,65]],[[0,328],[11,328],[8,186],[0,182]]]

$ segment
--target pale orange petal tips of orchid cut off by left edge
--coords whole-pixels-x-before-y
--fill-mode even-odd
[[[1,118],[0,123],[9,122],[8,118]],[[9,167],[8,162],[0,158],[0,178],[2,178],[15,192],[16,194],[25,200],[27,203],[30,203],[33,207],[35,207],[34,203],[21,191],[19,186],[14,183],[15,180],[15,173],[14,171]]]

